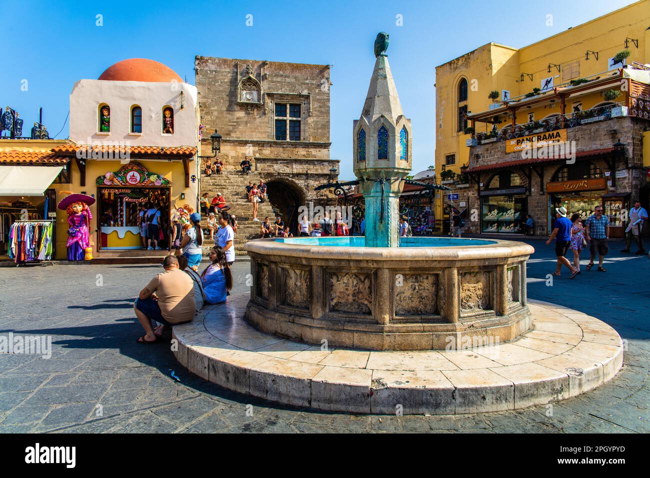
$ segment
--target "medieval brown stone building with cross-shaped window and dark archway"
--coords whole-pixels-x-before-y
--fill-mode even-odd
[[[217,129],[222,140],[216,156],[224,163],[222,174],[201,174],[201,194],[224,194],[240,229],[252,219],[248,181],[263,179],[268,186],[270,204],[263,203],[258,216],[278,213],[292,228],[298,207],[335,204],[331,192],[314,191],[339,171],[339,162],[330,159],[329,65],[197,56],[195,70],[205,126],[201,155],[211,155],[209,136]],[[250,175],[240,171],[244,158],[252,162]],[[247,238],[259,232],[259,223],[250,226]]]

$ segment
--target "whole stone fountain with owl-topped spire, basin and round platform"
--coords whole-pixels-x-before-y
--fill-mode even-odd
[[[360,413],[513,410],[610,380],[623,364],[616,330],[528,302],[531,246],[398,236],[413,135],[387,39],[353,129],[367,235],[249,241],[250,295],[175,326],[176,358],[235,392]]]

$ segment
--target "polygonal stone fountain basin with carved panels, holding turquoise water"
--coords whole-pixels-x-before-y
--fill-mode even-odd
[[[257,239],[246,320],[264,332],[369,350],[466,349],[530,328],[526,260],[516,241],[363,237]]]

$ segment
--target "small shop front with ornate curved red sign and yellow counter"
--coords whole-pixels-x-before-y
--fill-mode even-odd
[[[142,249],[140,211],[160,211],[161,248],[168,247],[170,230],[170,187],[163,176],[152,174],[139,163],[129,163],[116,172],[97,178],[99,250]]]

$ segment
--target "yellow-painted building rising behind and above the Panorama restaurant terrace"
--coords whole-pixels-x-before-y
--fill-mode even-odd
[[[489,43],[437,66],[435,171],[439,182],[454,189],[450,193],[458,189],[460,199],[437,196],[435,217],[447,221],[445,228],[447,206],[471,209],[480,204],[462,200],[463,188],[477,186],[472,179],[449,172],[459,175],[461,166],[471,170],[482,165],[479,152],[468,146],[496,140],[499,133],[530,133],[552,118],[578,111],[598,116],[599,107],[632,107],[627,89],[632,80],[621,67],[650,62],[649,20],[650,2],[639,1],[520,49]],[[619,56],[629,56],[617,62],[614,57],[621,51],[627,53]],[[530,194],[532,184],[527,186]],[[542,217],[541,224],[546,222]]]

